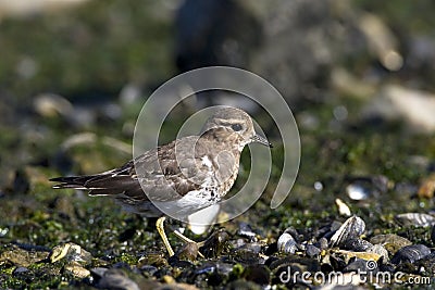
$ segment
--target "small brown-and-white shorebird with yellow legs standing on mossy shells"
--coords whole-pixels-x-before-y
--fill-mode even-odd
[[[208,118],[199,136],[157,147],[108,172],[50,180],[58,182],[53,188],[88,190],[89,196],[114,199],[129,212],[159,217],[156,227],[172,256],[163,226],[165,210],[185,219],[217,203],[233,187],[240,153],[252,142],[272,147],[256,133],[246,112],[224,106]],[[177,236],[191,242],[179,232]]]

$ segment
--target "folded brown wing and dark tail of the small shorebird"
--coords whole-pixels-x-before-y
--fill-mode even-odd
[[[151,196],[153,201],[176,200],[191,190],[198,190],[201,180],[207,178],[207,173],[196,166],[198,160],[195,159],[195,154],[188,156],[189,154],[178,153],[188,147],[194,150],[196,139],[185,137],[175,140],[147,151],[120,168],[101,174],[58,177],[50,180],[59,182],[53,188],[89,190],[90,196],[113,196],[135,201],[149,200],[148,196]]]

